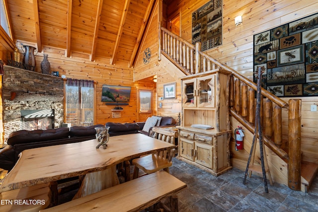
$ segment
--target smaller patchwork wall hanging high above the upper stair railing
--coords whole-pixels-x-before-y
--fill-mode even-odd
[[[202,43],[202,51],[222,44],[222,0],[210,0],[192,13],[192,44]]]

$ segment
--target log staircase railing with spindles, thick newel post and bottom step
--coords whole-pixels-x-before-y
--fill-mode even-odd
[[[218,69],[232,73],[228,79],[230,89],[228,106],[231,118],[253,134],[256,84],[200,50],[201,43],[192,45],[160,27],[159,61],[161,57],[163,60],[169,60],[185,75],[195,76],[201,72]],[[288,187],[307,192],[317,175],[318,164],[301,159],[301,100],[290,99],[287,103],[264,88],[261,88],[261,94],[264,143],[281,158],[282,163],[285,163],[283,166],[288,172],[285,179]],[[288,113],[288,132],[282,132],[282,111]],[[283,139],[283,133],[288,134],[288,140]],[[249,145],[246,146],[246,151],[249,152]]]

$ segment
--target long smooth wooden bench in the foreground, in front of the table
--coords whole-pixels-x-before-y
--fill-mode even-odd
[[[169,173],[159,171],[41,212],[136,212],[151,207],[166,197],[170,197],[171,212],[177,212],[177,198],[172,196],[186,186]]]

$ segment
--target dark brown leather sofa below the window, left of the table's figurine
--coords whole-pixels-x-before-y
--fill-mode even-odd
[[[24,149],[95,139],[96,131],[94,128],[103,126],[74,126],[71,128],[13,132],[7,139],[8,145],[0,149],[0,168],[11,170],[18,160],[19,153]]]

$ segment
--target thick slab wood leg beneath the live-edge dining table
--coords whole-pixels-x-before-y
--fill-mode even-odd
[[[80,197],[85,197],[118,184],[119,180],[116,174],[116,165],[103,171],[86,174],[79,191],[74,196],[73,200]]]

